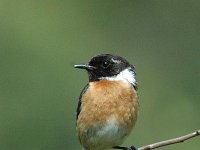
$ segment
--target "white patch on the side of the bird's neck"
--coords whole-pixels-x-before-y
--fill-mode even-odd
[[[132,85],[136,86],[136,78],[135,73],[131,70],[131,68],[126,68],[123,71],[121,71],[118,75],[112,76],[112,77],[102,77],[100,79],[103,80],[111,80],[111,81],[128,81]]]

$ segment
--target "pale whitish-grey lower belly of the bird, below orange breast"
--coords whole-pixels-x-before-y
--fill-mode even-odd
[[[121,126],[112,116],[104,125],[96,125],[87,130],[87,143],[91,150],[104,150],[120,145],[127,136],[127,128]]]

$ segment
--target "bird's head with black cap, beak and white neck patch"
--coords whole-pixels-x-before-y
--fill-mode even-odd
[[[75,65],[75,68],[86,69],[89,74],[89,81],[101,79],[120,79],[123,78],[136,85],[135,68],[129,62],[116,55],[100,54],[93,57],[88,64]],[[132,78],[132,79],[131,79]]]

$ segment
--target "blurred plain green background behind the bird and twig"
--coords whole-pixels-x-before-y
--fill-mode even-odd
[[[99,53],[135,65],[140,112],[123,145],[200,128],[197,0],[0,1],[0,149],[79,150],[73,68]],[[162,148],[198,150],[200,138]]]

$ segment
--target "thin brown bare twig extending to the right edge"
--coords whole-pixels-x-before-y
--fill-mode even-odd
[[[199,136],[200,135],[200,130],[197,130],[193,133],[184,135],[184,136],[180,136],[174,139],[169,139],[166,141],[161,141],[158,143],[153,143],[150,145],[146,145],[146,146],[142,146],[140,148],[138,148],[138,150],[151,150],[151,149],[155,149],[155,148],[159,148],[159,147],[163,147],[163,146],[167,146],[167,145],[171,145],[171,144],[176,144],[176,143],[181,143],[184,142],[185,140],[191,139],[193,137]]]

